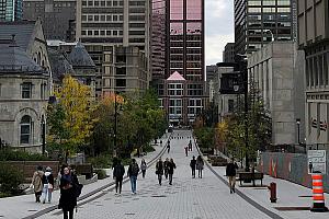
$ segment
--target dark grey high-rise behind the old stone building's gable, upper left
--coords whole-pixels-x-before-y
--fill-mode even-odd
[[[76,0],[24,0],[23,19],[43,22],[47,39],[75,41]]]

